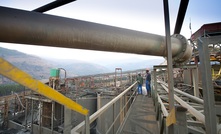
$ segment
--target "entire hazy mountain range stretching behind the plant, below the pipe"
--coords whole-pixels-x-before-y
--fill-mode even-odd
[[[9,61],[14,66],[27,72],[36,79],[48,79],[50,77],[50,69],[64,68],[67,77],[93,75],[101,73],[114,72],[116,67],[122,68],[123,71],[136,70],[142,68],[152,68],[153,65],[159,65],[164,61],[163,58],[143,60],[139,58],[128,58],[124,60],[117,60],[114,63],[104,64],[104,62],[89,63],[73,59],[46,59],[33,55],[28,55],[16,50],[10,50],[0,47],[0,57]],[[105,62],[107,63],[107,62]],[[61,77],[64,72],[61,71]],[[9,81],[1,79],[1,81]]]

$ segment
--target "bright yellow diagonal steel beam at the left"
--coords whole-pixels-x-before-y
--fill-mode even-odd
[[[78,103],[39,80],[32,78],[29,74],[18,69],[2,58],[0,58],[0,74],[83,115],[87,115],[89,112]]]

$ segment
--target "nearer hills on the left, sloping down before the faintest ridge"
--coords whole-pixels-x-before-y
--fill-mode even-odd
[[[78,60],[43,59],[37,56],[28,55],[16,50],[1,47],[0,57],[27,72],[35,79],[49,78],[50,69],[52,68],[64,68],[67,71],[68,77],[109,72],[109,69],[97,64]],[[0,81],[7,81],[7,79],[3,80],[2,78]]]

